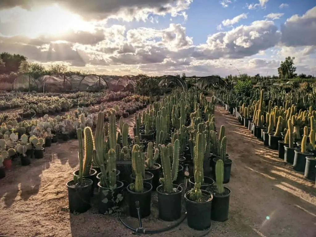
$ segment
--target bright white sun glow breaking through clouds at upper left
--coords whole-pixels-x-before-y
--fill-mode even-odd
[[[15,23],[16,34],[29,38],[39,36],[58,36],[70,30],[90,31],[91,24],[58,4],[32,8],[14,8],[6,12],[5,21]]]

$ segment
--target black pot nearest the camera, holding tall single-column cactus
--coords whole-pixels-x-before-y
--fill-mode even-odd
[[[188,191],[184,195],[185,209],[187,212],[186,219],[188,220],[188,226],[195,230],[205,230],[211,226],[211,209],[213,195],[205,190],[201,190],[202,194],[209,195],[210,199],[206,202],[198,203],[190,200],[190,192]]]

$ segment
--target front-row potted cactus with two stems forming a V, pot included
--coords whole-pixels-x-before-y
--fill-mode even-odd
[[[175,221],[181,216],[182,196],[182,187],[173,184],[173,181],[177,180],[178,176],[179,158],[177,159],[176,157],[179,157],[180,152],[179,140],[177,139],[173,143],[174,160],[172,167],[168,155],[168,146],[160,145],[159,147],[163,171],[162,185],[157,187],[159,218],[163,221]]]

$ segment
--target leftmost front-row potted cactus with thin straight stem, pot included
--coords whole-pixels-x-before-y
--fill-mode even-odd
[[[81,129],[77,130],[77,135],[78,137],[82,136]],[[78,175],[74,175],[74,178],[66,183],[68,189],[69,210],[71,213],[83,213],[89,210],[91,207],[90,199],[93,181],[91,179],[83,178],[83,171],[87,169],[85,164],[88,163],[88,161],[85,159],[88,159],[88,156],[83,155],[82,150],[79,149],[78,158],[79,173]]]

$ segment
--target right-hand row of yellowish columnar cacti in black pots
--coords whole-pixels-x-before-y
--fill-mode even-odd
[[[307,179],[314,181],[316,179],[314,94],[301,96],[299,93],[281,93],[273,100],[269,93],[262,90],[258,100],[255,96],[248,99],[244,97],[236,103],[238,105],[235,107],[227,104],[226,101],[230,101],[227,98],[218,96],[218,101],[265,146],[278,150],[280,159],[291,164],[295,171],[303,172]],[[285,100],[281,103],[278,98]]]

